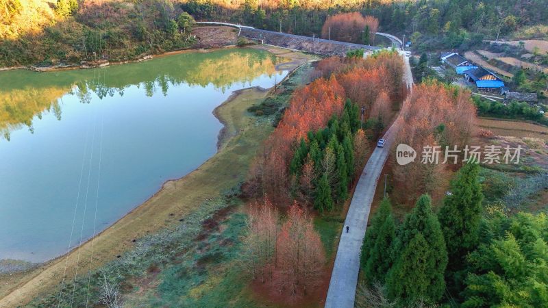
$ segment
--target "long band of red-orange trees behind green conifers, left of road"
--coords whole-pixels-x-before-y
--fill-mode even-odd
[[[309,131],[327,127],[332,116],[340,117],[347,98],[364,109],[364,120],[374,116],[388,124],[393,103],[406,95],[402,75],[403,60],[388,51],[366,59],[332,57],[319,62],[315,73],[318,79],[295,91],[264,151],[253,162],[246,192],[255,197],[268,194],[280,204],[292,201],[297,179],[292,178],[288,167],[301,138],[307,140]]]

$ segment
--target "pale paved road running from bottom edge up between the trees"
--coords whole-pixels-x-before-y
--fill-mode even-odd
[[[404,58],[406,69],[404,70],[403,80],[411,87],[413,79],[409,58]],[[360,271],[360,251],[365,229],[367,228],[367,220],[369,220],[371,202],[375,195],[382,168],[388,158],[388,152],[399,130],[398,123],[400,120],[401,118],[398,118],[386,131],[384,134],[386,145],[384,148],[375,148],[362,171],[358,185],[356,185],[345,220],[345,227],[349,226],[350,229],[349,233],[346,233],[344,228],[343,233],[340,235],[335,264],[329,282],[329,291],[327,291],[327,299],[325,300],[325,307],[327,308],[354,307],[356,284],[358,283],[358,272]]]

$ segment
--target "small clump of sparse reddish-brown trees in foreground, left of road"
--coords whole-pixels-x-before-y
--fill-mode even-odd
[[[251,207],[248,225],[245,268],[254,280],[288,296],[306,295],[321,283],[323,246],[312,219],[297,203],[280,226],[277,210],[265,197]]]

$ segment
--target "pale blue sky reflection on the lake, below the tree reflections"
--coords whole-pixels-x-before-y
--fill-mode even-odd
[[[222,125],[212,110],[232,91],[269,88],[286,74],[224,88],[175,82],[162,91],[154,81],[151,96],[140,82],[123,86],[123,96],[119,89],[107,88],[112,96],[102,99],[101,91],[89,91],[88,103],[80,90],[64,94],[60,114],[32,118],[34,133],[16,129],[9,142],[0,140],[0,259],[44,261],[66,252],[73,220],[71,246],[82,230],[83,240],[90,238],[97,191],[96,232],[105,229],[216,152]]]

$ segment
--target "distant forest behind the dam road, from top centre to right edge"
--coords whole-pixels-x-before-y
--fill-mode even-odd
[[[188,0],[183,8],[199,20],[281,28],[310,36],[321,33],[327,16],[356,10],[379,18],[383,31],[414,34],[412,39],[427,47],[457,48],[495,39],[499,29],[501,37],[548,37],[545,0]]]

